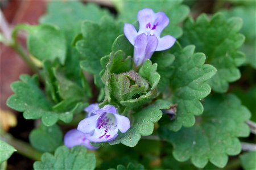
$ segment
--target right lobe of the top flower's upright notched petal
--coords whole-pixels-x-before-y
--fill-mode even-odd
[[[157,12],[155,14],[155,21],[154,21],[154,25],[155,25],[155,36],[160,38],[160,34],[163,31],[164,28],[167,27],[167,25],[169,24],[169,18],[166,14],[164,14],[164,12]]]

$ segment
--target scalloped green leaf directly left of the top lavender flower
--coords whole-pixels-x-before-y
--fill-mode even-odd
[[[83,38],[76,42],[76,49],[84,59],[80,66],[88,73],[94,74],[96,82],[101,82],[100,59],[111,52],[114,40],[123,32],[122,27],[123,23],[116,22],[110,17],[102,18],[100,24],[88,21],[82,23]],[[97,85],[102,86],[102,83]]]

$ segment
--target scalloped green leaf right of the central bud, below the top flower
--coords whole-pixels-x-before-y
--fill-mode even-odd
[[[168,71],[172,73],[170,78],[171,100],[172,103],[177,104],[177,116],[168,124],[168,128],[177,131],[181,126],[193,126],[195,115],[203,113],[200,100],[210,94],[207,80],[216,73],[216,69],[204,64],[205,55],[194,53],[195,46],[193,45],[175,51],[175,61]]]

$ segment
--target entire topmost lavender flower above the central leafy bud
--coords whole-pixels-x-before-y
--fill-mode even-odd
[[[160,37],[163,29],[169,24],[169,19],[164,12],[155,13],[150,8],[138,12],[139,31],[134,25],[125,23],[123,32],[126,38],[134,45],[134,62],[141,65],[146,59],[151,58],[155,51],[171,48],[176,39],[170,35]]]

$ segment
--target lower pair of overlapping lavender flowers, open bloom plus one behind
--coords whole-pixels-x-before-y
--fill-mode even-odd
[[[118,130],[125,133],[130,129],[129,118],[118,114],[112,105],[99,108],[98,104],[91,104],[85,108],[88,113],[84,120],[80,121],[77,130],[68,131],[64,137],[64,144],[68,147],[84,145],[89,149],[96,149],[90,142],[112,141],[118,135]]]

